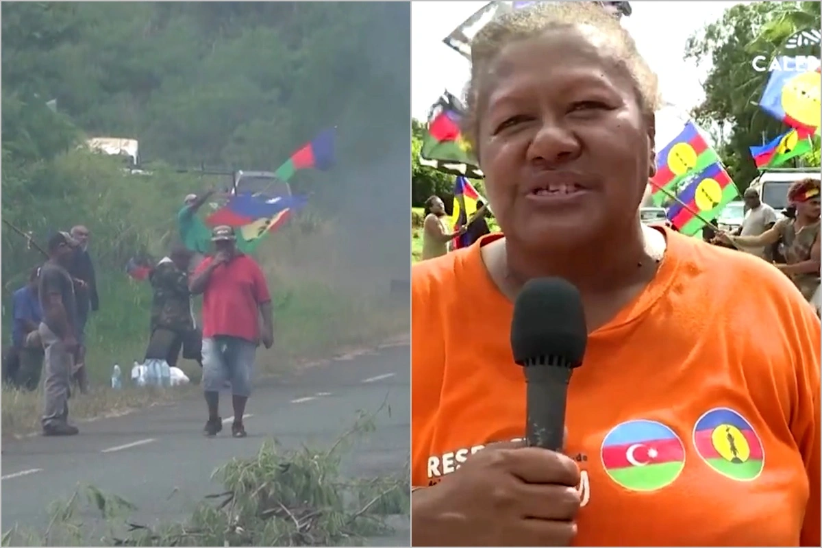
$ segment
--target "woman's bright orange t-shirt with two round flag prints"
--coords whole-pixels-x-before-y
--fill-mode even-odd
[[[570,380],[577,546],[820,546],[820,321],[777,269],[670,230]],[[413,267],[412,481],[524,436],[513,305],[480,247]]]

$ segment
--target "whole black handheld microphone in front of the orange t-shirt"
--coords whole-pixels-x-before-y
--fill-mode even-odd
[[[582,363],[586,343],[588,328],[577,288],[561,278],[525,283],[514,303],[511,350],[528,383],[529,446],[562,449],[568,381]]]

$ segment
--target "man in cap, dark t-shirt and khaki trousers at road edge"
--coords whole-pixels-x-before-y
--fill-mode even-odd
[[[74,282],[67,269],[74,252],[72,237],[56,233],[48,239],[48,260],[40,267],[38,294],[43,321],[39,335],[45,348],[44,435],[78,432],[76,426],[68,423],[70,384],[80,347]]]

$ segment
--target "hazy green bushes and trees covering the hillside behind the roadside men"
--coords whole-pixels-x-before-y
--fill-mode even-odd
[[[407,191],[393,180],[408,170],[407,35],[409,7],[388,2],[2,5],[2,217],[41,244],[54,229],[91,229],[101,312],[90,361],[110,370],[139,356],[150,296],[127,280],[127,259],[164,251],[182,196],[228,182],[179,170],[273,171],[324,127],[338,127],[337,165],[294,177],[312,195],[310,210],[260,250],[278,260],[280,309],[291,306],[303,327],[328,321],[328,307],[344,300],[341,283],[387,287],[389,275],[407,273],[407,250],[396,249],[407,233],[397,221],[391,232],[391,219],[407,214]],[[151,174],[124,173],[120,160],[85,150],[92,136],[139,140]],[[366,214],[376,230],[352,237]],[[3,230],[7,303],[42,257]],[[358,265],[370,276],[349,274]],[[339,332],[328,338],[346,342]]]

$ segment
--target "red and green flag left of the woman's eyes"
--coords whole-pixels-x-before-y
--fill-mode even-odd
[[[441,95],[428,114],[419,159],[421,164],[437,171],[480,179],[483,172],[459,130],[464,112],[464,106],[454,95],[447,91]]]

